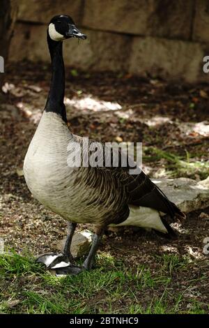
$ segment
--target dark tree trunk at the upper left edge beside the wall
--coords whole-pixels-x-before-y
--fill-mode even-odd
[[[16,0],[0,0],[0,56],[3,57],[4,71],[8,59],[10,38],[13,36],[13,29],[17,17]],[[1,87],[3,85],[5,73],[0,73],[0,103],[3,101]]]

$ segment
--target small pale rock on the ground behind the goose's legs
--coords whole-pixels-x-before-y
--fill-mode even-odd
[[[86,255],[86,253],[88,253],[91,246],[92,236],[93,233],[89,230],[76,232],[73,235],[70,251],[74,258],[81,258],[83,255]],[[57,245],[59,251],[63,251],[65,241],[66,239],[62,239],[61,241],[59,241],[59,244]]]

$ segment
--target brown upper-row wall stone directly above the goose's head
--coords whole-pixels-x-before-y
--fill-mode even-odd
[[[82,0],[19,0],[18,20],[48,23],[55,15],[71,15],[77,24],[81,22]]]

